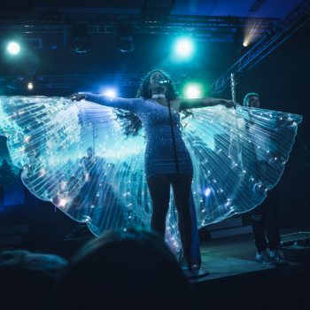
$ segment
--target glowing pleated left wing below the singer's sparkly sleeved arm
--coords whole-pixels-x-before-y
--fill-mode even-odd
[[[126,138],[115,119],[63,97],[0,97],[0,134],[27,189],[97,235],[150,224],[144,138]]]

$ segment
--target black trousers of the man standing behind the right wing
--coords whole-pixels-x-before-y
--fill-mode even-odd
[[[280,245],[278,190],[270,190],[265,201],[252,211],[252,231],[257,251],[275,250]],[[266,236],[267,235],[267,240]]]

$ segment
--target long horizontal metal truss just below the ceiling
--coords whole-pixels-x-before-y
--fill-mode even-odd
[[[49,15],[5,14],[0,13],[2,20],[0,29],[18,33],[34,34],[69,34],[74,22],[84,22],[89,27],[90,34],[115,34],[121,25],[130,25],[135,34],[190,34],[208,37],[216,41],[234,40],[236,29],[251,27],[251,23],[260,24],[261,32],[275,26],[278,19],[247,19],[218,16],[145,16],[141,14],[69,14]]]

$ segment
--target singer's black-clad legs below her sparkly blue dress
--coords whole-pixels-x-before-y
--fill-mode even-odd
[[[184,259],[190,263],[191,212],[190,191],[192,174],[156,174],[148,178],[153,211],[151,229],[165,237],[166,217],[170,201],[170,186],[174,191],[174,202],[178,213],[178,228],[181,236]]]

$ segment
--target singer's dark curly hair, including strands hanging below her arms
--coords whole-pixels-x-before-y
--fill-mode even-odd
[[[149,84],[150,84],[151,74],[153,74],[154,72],[160,72],[160,74],[162,74],[165,79],[171,81],[170,76],[167,73],[165,73],[163,70],[153,69],[143,77],[143,80],[136,92],[136,98],[142,97],[144,100],[151,99],[151,91],[149,89]],[[167,85],[166,97],[168,101],[172,101],[178,97],[178,93],[174,89],[173,83],[169,83]],[[120,126],[122,128],[124,135],[126,136],[139,135],[139,131],[142,128],[142,122],[135,113],[120,110],[120,109],[114,109],[114,112],[117,116],[117,120],[120,123]],[[193,115],[192,112],[188,110],[182,110],[182,114],[183,114],[182,120],[190,115],[191,116]]]

